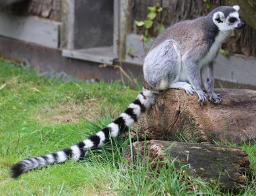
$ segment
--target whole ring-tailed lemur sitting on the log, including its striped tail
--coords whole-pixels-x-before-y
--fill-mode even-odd
[[[205,17],[179,22],[167,28],[154,41],[146,56],[143,73],[150,88],[143,88],[137,98],[115,121],[95,135],[59,152],[22,160],[11,168],[12,176],[47,164],[79,160],[91,148],[103,145],[108,137],[117,137],[119,132],[129,129],[155,102],[155,96],[166,88],[182,88],[187,94],[197,93],[203,104],[207,95],[201,88],[201,81],[214,103],[220,103],[214,93],[213,64],[222,42],[234,29],[243,28],[240,7],[217,7]]]

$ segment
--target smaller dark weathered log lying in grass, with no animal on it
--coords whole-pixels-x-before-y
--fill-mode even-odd
[[[241,191],[248,178],[249,161],[247,154],[240,148],[211,145],[207,143],[183,143],[172,141],[137,141],[133,143],[133,156],[130,146],[125,150],[123,158],[128,164],[146,159],[155,170],[157,162],[168,166],[174,161],[175,168],[181,168],[190,176],[199,177],[211,183],[219,183],[222,191]],[[138,153],[138,154],[137,154]],[[139,155],[139,156],[137,156]],[[161,166],[161,165],[160,165]]]

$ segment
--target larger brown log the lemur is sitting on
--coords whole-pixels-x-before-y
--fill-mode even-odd
[[[241,143],[256,139],[256,91],[218,89],[223,102],[205,102],[184,90],[167,90],[156,104],[132,127],[140,140],[228,141]]]

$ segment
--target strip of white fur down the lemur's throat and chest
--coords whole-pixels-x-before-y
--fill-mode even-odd
[[[203,57],[203,59],[201,59],[201,61],[199,61],[200,68],[214,60],[218,51],[220,50],[220,47],[222,46],[222,43],[226,40],[229,34],[230,31],[222,31],[218,33],[218,36],[216,36],[215,41],[210,47],[208,53]]]

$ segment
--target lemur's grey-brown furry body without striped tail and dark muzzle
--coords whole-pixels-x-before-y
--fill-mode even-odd
[[[174,24],[158,36],[143,65],[144,79],[150,87],[154,90],[183,88],[188,94],[196,92],[200,104],[207,96],[220,103],[220,96],[214,93],[212,61],[235,28],[225,20],[234,12],[233,7],[218,7],[205,17]]]

